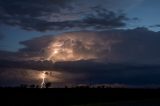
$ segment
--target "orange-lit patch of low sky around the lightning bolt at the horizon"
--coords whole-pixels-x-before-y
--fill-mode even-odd
[[[59,72],[46,71],[46,83],[63,83],[63,75]],[[41,84],[42,72],[31,69],[19,69],[19,68],[5,68],[0,72],[0,85],[1,86],[20,86],[21,84],[26,84],[28,87],[30,85],[39,86]]]

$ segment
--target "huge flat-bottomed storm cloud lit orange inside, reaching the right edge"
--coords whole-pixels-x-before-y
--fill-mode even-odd
[[[55,55],[57,57],[53,56],[52,58],[59,59],[58,57],[61,57],[63,60],[69,55],[69,49],[72,51],[72,55],[75,54],[77,60],[80,57],[84,60],[90,57],[87,59],[111,63],[158,64],[160,61],[159,35],[159,32],[153,32],[147,28],[68,32],[21,42],[26,47],[20,49],[19,52],[28,55],[33,53],[35,56],[43,57],[58,50],[59,54]]]

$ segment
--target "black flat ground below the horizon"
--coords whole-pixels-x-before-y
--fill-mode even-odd
[[[3,88],[0,98],[3,106],[160,106],[160,89]]]

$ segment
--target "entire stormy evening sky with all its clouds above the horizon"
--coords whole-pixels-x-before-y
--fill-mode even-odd
[[[1,0],[0,86],[160,85],[159,0]]]

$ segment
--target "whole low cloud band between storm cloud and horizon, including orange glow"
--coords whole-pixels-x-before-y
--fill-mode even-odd
[[[4,61],[0,62],[4,63]],[[53,86],[57,84],[64,86],[68,84],[103,83],[149,85],[159,84],[160,81],[160,72],[158,71],[160,69],[159,65],[108,64],[92,61],[57,62],[55,64],[52,62],[37,61],[10,61],[8,63],[9,64],[4,63],[5,66],[2,66],[1,63],[1,70],[4,70],[1,72],[3,76],[1,77],[1,84],[4,84],[5,81],[13,83],[14,81],[17,83],[18,81],[18,84],[21,82],[24,83],[25,81],[27,84],[40,84],[41,77],[39,75],[41,75],[44,70],[54,73],[48,80],[54,84]],[[6,77],[8,76],[6,75],[6,71],[10,77]],[[23,77],[23,75],[25,75],[25,77]]]

